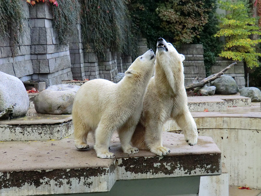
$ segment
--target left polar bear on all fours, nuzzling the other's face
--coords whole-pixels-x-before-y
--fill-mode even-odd
[[[104,79],[83,84],[73,103],[75,146],[86,149],[87,135],[94,132],[97,157],[113,158],[109,142],[118,131],[124,153],[137,153],[131,137],[142,112],[143,98],[154,72],[155,55],[152,49],[138,57],[117,84]]]

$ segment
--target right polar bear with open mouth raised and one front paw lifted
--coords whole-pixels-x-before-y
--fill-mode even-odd
[[[157,42],[155,76],[151,78],[143,101],[142,114],[132,137],[139,149],[148,148],[162,156],[170,152],[162,146],[164,123],[174,119],[189,145],[197,143],[197,126],[189,112],[184,88],[184,55],[163,38]]]

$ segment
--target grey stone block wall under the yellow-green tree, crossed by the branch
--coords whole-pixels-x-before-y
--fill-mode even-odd
[[[212,74],[218,73],[222,69],[225,69],[227,66],[229,66],[234,62],[237,62],[237,64],[232,66],[230,69],[228,69],[225,72],[225,75],[230,75],[231,77],[233,77],[236,83],[238,84],[238,87],[241,89],[244,88],[246,84],[244,63],[242,61],[233,61],[233,60],[226,59],[224,57],[217,57],[217,61],[211,67],[211,73]]]

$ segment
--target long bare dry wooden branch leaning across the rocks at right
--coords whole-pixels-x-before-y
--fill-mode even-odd
[[[191,84],[185,86],[186,91],[189,91],[189,90],[194,89],[194,88],[196,88],[196,87],[203,87],[206,83],[209,83],[209,82],[211,82],[211,81],[213,81],[213,80],[215,80],[215,79],[217,79],[217,78],[220,78],[220,76],[223,75],[226,70],[228,70],[229,68],[231,68],[231,67],[234,66],[235,64],[237,64],[237,63],[235,62],[235,63],[230,64],[229,66],[227,66],[227,67],[226,67],[225,69],[223,69],[222,71],[220,71],[220,72],[218,72],[218,73],[215,73],[215,74],[213,74],[213,75],[210,75],[209,77],[207,77],[207,78],[201,80],[200,82],[196,82],[196,83],[195,83],[195,81],[197,81],[197,80],[196,80],[197,78],[195,78],[195,80],[193,80],[194,83],[192,82]]]

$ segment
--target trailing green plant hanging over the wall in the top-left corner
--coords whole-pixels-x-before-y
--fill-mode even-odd
[[[0,42],[9,39],[13,56],[22,37],[24,17],[21,0],[0,1]]]

